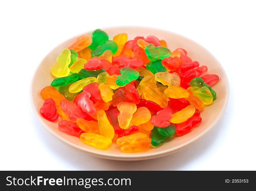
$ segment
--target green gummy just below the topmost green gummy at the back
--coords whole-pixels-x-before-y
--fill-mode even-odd
[[[106,50],[111,50],[112,53],[115,54],[117,49],[118,49],[118,45],[117,43],[115,43],[115,41],[107,40],[101,45],[97,46],[95,50],[93,50],[92,57],[95,57],[95,56],[98,57],[102,55],[103,52],[105,52]]]

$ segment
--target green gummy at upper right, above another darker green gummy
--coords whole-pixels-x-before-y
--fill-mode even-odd
[[[150,61],[156,61],[157,59],[164,59],[170,57],[171,51],[169,48],[163,46],[154,46],[152,44],[145,47],[145,52],[147,54],[147,58]]]

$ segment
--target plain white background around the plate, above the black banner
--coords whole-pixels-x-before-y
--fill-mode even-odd
[[[256,30],[253,1],[1,1],[0,170],[256,170]],[[88,30],[148,26],[208,49],[230,83],[227,110],[198,142],[147,161],[91,157],[35,117],[30,81],[56,45]]]

